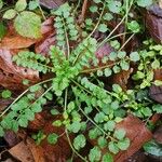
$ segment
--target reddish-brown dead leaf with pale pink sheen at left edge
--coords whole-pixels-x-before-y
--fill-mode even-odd
[[[12,56],[17,51],[9,51],[0,49],[0,84],[10,90],[23,90],[24,79],[28,79],[31,83],[39,81],[39,73],[31,69],[18,67],[13,64]]]

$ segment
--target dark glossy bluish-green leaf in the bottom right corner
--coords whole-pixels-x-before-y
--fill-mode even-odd
[[[161,157],[162,146],[157,144],[154,140],[150,140],[144,145],[144,150],[150,154]]]

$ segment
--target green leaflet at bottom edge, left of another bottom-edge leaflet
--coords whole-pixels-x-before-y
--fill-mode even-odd
[[[99,150],[98,147],[94,147],[93,149],[90,150],[89,153],[89,159],[91,162],[97,162],[102,158],[102,151]]]

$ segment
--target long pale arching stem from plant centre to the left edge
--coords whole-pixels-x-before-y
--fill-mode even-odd
[[[37,84],[32,85],[32,86],[40,85],[40,84],[50,82],[50,81],[52,81],[52,80],[53,80],[53,79],[49,79],[49,80],[39,82],[39,83],[37,83]],[[31,86],[30,86],[30,87],[31,87]],[[26,91],[24,91],[11,105],[0,114],[0,117],[4,116],[4,114],[10,110],[10,108],[11,108],[19,98],[22,98],[22,97],[29,91],[30,87],[28,87]]]

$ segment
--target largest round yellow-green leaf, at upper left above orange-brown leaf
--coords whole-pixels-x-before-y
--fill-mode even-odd
[[[40,38],[41,37],[41,18],[37,14],[24,11],[14,21],[14,27],[16,31],[28,38]]]

